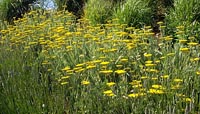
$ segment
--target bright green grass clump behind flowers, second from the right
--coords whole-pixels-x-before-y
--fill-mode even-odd
[[[113,13],[113,18],[117,18],[119,23],[129,26],[151,25],[153,12],[148,4],[148,0],[127,0],[118,5]]]

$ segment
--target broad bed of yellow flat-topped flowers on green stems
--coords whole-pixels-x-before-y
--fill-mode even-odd
[[[200,113],[199,41],[158,25],[159,38],[151,26],[94,26],[67,11],[2,21],[0,113]]]

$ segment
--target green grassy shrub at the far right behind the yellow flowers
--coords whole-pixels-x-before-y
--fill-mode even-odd
[[[185,39],[189,36],[198,37],[200,1],[199,0],[175,0],[174,8],[171,8],[166,16],[166,33],[174,34],[177,26],[184,26]],[[199,40],[199,38],[198,38]]]

